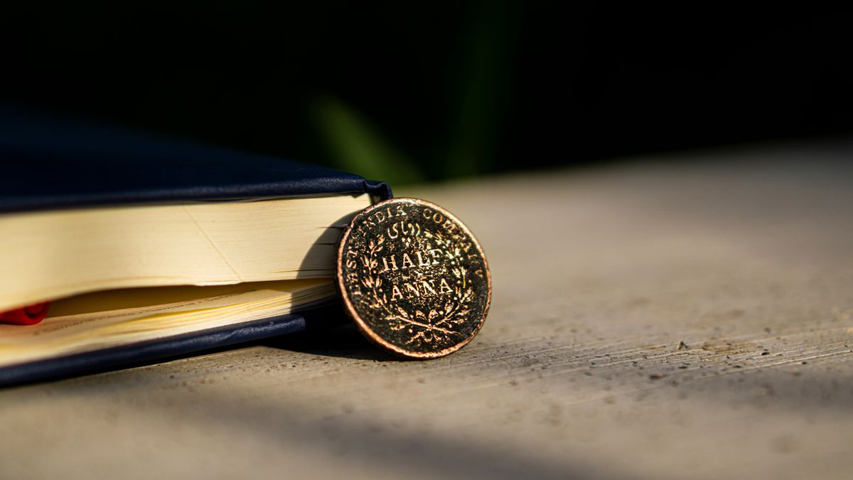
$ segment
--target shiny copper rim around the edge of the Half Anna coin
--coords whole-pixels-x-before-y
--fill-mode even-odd
[[[465,233],[467,233],[468,237],[471,237],[471,240],[473,241],[474,247],[477,249],[477,252],[479,253],[480,257],[483,259],[483,266],[485,267],[486,287],[488,289],[488,295],[486,296],[485,310],[483,310],[483,315],[479,319],[477,327],[474,329],[474,331],[472,331],[471,334],[468,335],[464,340],[462,340],[461,342],[459,342],[456,345],[453,345],[451,347],[444,348],[443,350],[438,350],[438,352],[427,352],[427,353],[412,352],[412,351],[406,350],[405,348],[398,347],[397,345],[394,345],[391,342],[386,341],[384,338],[380,337],[376,332],[371,330],[370,327],[367,325],[367,323],[364,322],[364,320],[361,318],[361,316],[357,313],[355,307],[352,305],[352,302],[350,301],[350,297],[346,292],[346,288],[344,285],[344,248],[345,248],[347,239],[350,237],[350,233],[352,231],[353,225],[355,225],[356,220],[363,217],[364,215],[368,215],[368,214],[370,214],[370,212],[373,212],[374,210],[376,210],[378,208],[383,208],[388,203],[393,203],[393,202],[417,203],[417,204],[420,204],[421,206],[425,206],[428,208],[433,208],[435,210],[438,210],[438,212],[440,212],[441,214],[446,215],[448,218],[450,218],[450,220],[455,221],[456,225],[459,225],[461,231],[464,231]],[[388,200],[383,200],[382,202],[374,203],[373,205],[369,206],[368,208],[363,209],[361,212],[359,212],[354,217],[352,217],[352,220],[350,220],[349,225],[346,225],[346,228],[344,230],[343,235],[340,236],[340,242],[338,244],[338,259],[337,260],[338,261],[337,261],[337,265],[336,265],[336,269],[335,269],[335,277],[336,277],[337,281],[335,282],[335,284],[338,286],[340,296],[344,300],[344,309],[345,309],[346,313],[356,323],[358,330],[361,331],[365,337],[368,337],[368,340],[370,340],[371,342],[374,342],[375,344],[379,345],[382,348],[386,348],[387,350],[390,350],[394,354],[403,355],[404,357],[413,358],[413,359],[434,359],[434,358],[444,357],[445,355],[452,354],[453,352],[456,352],[456,350],[467,345],[468,342],[471,342],[473,340],[473,337],[477,336],[480,329],[483,328],[483,324],[485,324],[486,316],[488,316],[488,314],[489,314],[489,307],[491,306],[491,274],[489,272],[489,262],[488,262],[488,260],[486,260],[485,254],[483,253],[483,248],[480,247],[480,244],[477,241],[477,237],[474,237],[473,233],[470,230],[468,230],[467,225],[465,225],[464,223],[461,222],[461,220],[456,218],[456,215],[451,214],[446,209],[439,207],[435,203],[427,202],[426,200],[421,200],[420,198],[412,198],[410,196],[398,196],[396,198],[389,198]]]

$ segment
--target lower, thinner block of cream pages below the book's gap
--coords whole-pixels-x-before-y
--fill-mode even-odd
[[[0,366],[269,318],[332,298],[331,281],[322,279],[75,297],[56,302],[38,325],[0,325]]]

